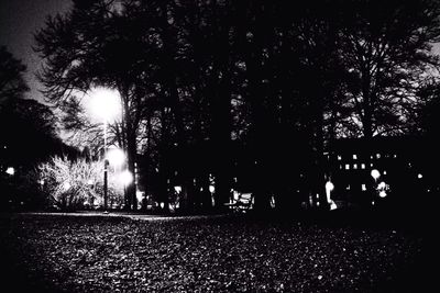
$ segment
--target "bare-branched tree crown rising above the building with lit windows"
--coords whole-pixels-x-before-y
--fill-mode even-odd
[[[340,4],[339,47],[348,74],[342,108],[350,110],[348,120],[367,138],[408,134],[418,124],[417,92],[438,75],[439,58],[432,54],[440,36],[438,2]]]

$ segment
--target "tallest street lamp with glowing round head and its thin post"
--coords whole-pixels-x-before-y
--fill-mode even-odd
[[[88,94],[89,109],[103,124],[103,210],[107,212],[108,202],[108,166],[107,158],[107,124],[121,114],[121,99],[118,91],[108,88],[96,88]]]

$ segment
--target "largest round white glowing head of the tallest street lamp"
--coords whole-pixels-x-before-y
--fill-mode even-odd
[[[119,92],[107,88],[96,88],[89,93],[90,111],[105,122],[110,122],[121,114]]]

